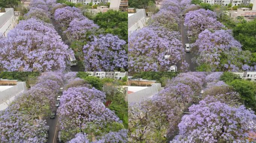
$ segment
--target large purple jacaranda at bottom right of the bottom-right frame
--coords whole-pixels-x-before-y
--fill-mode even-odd
[[[183,142],[241,142],[246,143],[256,115],[244,106],[229,107],[221,102],[189,107],[191,114],[184,115],[179,124],[180,138],[170,143]]]

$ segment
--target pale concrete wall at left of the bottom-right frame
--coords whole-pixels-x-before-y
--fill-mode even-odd
[[[139,90],[137,92],[128,94],[128,104],[132,102],[140,102],[143,99],[149,98],[150,96],[155,95],[161,90],[161,83],[152,83],[152,86]],[[129,87],[128,87],[129,90]]]

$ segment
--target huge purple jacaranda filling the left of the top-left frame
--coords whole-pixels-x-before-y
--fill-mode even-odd
[[[52,26],[40,20],[20,22],[0,41],[0,64],[6,71],[64,71],[73,51],[58,41]]]

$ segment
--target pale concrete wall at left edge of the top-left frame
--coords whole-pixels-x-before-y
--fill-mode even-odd
[[[10,29],[16,26],[17,21],[13,8],[6,8],[6,12],[0,16],[0,34],[7,36]]]

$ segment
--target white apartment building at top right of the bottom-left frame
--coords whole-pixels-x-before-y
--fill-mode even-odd
[[[125,76],[128,76],[128,72],[120,72],[120,71],[90,71],[89,76],[96,76],[100,79],[106,78],[112,78],[112,79],[122,79]]]

